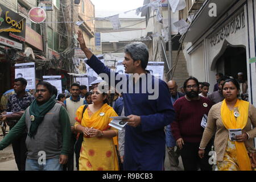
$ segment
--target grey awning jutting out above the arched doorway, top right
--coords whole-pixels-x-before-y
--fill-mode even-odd
[[[240,1],[240,0],[238,0]],[[204,32],[209,29],[210,26],[214,22],[216,22],[218,19],[220,19],[225,13],[226,10],[229,9],[230,6],[233,6],[238,2],[237,0],[208,0],[205,1],[204,5],[201,7],[201,9],[197,12],[195,15],[195,19],[189,26],[187,34],[185,34],[184,42],[195,42],[197,39],[199,39],[201,36],[204,35]],[[241,2],[241,1],[240,1]],[[216,17],[210,17],[209,16],[209,4],[215,3],[217,8],[217,16]],[[226,14],[228,16],[228,14]],[[216,26],[215,26],[216,27]],[[213,27],[214,28],[214,27]]]

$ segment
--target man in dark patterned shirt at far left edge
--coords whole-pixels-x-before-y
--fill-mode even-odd
[[[19,119],[24,114],[24,111],[35,99],[30,93],[26,92],[27,80],[24,78],[16,78],[14,80],[14,91],[7,102],[6,112],[2,113],[2,121],[6,121],[10,130],[16,125]],[[13,146],[13,152],[15,162],[19,171],[25,171],[27,147],[25,144],[27,137],[27,131],[23,130],[22,134],[11,143]]]

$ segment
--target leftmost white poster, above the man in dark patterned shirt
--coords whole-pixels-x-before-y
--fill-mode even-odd
[[[35,63],[15,64],[15,78],[27,80],[26,89],[35,89]]]

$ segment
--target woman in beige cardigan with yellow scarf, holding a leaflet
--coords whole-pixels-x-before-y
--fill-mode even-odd
[[[256,137],[256,109],[247,101],[238,98],[240,86],[236,80],[226,80],[222,86],[224,101],[213,105],[208,114],[207,127],[199,147],[199,156],[214,138],[218,171],[251,171],[248,152],[255,152],[253,140]],[[254,129],[251,130],[251,125]],[[242,134],[232,138],[230,130],[242,130]]]

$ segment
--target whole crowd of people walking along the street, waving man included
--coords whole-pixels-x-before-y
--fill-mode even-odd
[[[78,35],[86,64],[110,78],[112,71],[86,47],[80,31]],[[127,88],[142,90],[143,84],[155,84],[158,78],[146,70],[147,63],[145,44],[125,47],[125,73],[152,78],[143,83],[140,77],[126,75],[134,80],[134,84],[125,82]],[[238,80],[217,73],[216,80],[209,94],[210,84],[195,77],[187,78],[180,92],[176,81],[158,79],[158,97],[150,100],[147,89],[110,94],[101,92],[102,85],[87,88],[76,82],[70,92],[57,96],[55,86],[42,81],[32,96],[25,90],[27,81],[16,78],[15,93],[9,95],[1,114],[11,130],[0,142],[0,150],[13,144],[20,171],[72,171],[74,160],[77,170],[160,171],[166,148],[172,171],[180,170],[180,156],[185,171],[211,171],[214,164],[220,171],[254,170],[256,128],[251,125],[256,126],[256,109],[245,101],[247,82],[241,73]],[[118,82],[103,87],[110,89]],[[110,117],[116,116],[127,117],[122,130],[109,125]],[[216,153],[216,163],[209,162],[210,151]]]

